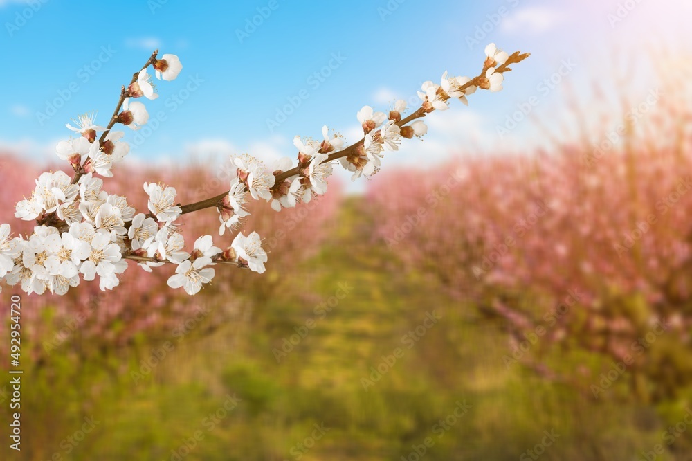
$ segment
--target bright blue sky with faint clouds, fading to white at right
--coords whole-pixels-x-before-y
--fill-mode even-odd
[[[125,129],[140,161],[178,161],[192,152],[294,156],[293,136],[318,137],[325,124],[358,141],[356,111],[363,105],[387,110],[394,99],[415,96],[425,80],[439,81],[445,70],[475,75],[489,42],[532,55],[507,75],[502,92],[476,93],[470,107],[454,104],[428,117],[425,141],[407,143],[385,167],[420,156],[523,148],[540,136],[531,120],[502,139],[497,130],[518,104],[536,96],[531,118],[549,124],[564,112],[565,90],[585,91],[611,53],[636,60],[638,46],[684,42],[685,20],[692,17],[691,2],[653,0],[253,0],[208,7],[34,1],[32,8],[0,0],[0,147],[36,159],[69,138],[64,125],[78,114],[98,111],[105,125],[120,85],[154,48],[179,55],[183,71],[174,82],[157,84],[160,98],[143,100],[152,118],[163,114],[156,129],[140,138]],[[253,17],[259,25],[248,26]],[[574,69],[554,89],[539,87],[565,60]],[[292,113],[277,119],[291,98]]]

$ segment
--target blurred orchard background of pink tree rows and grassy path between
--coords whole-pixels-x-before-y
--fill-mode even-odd
[[[692,87],[676,79],[639,117],[637,100],[574,107],[596,127],[549,150],[255,204],[267,272],[228,269],[195,298],[136,267],[118,291],[23,296],[22,459],[692,459]],[[44,169],[0,161],[9,222]],[[110,189],[195,201],[226,182],[202,164],[123,167]],[[217,226],[207,211],[185,237]]]

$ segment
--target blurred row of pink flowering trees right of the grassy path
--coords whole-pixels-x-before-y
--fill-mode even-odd
[[[374,239],[499,321],[508,367],[594,397],[679,396],[692,384],[692,136],[675,120],[692,117],[675,109],[610,148],[383,172],[367,191]]]

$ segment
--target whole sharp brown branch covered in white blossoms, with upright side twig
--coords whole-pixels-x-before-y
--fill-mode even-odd
[[[138,100],[158,98],[149,66],[158,80],[174,80],[183,69],[176,55],[159,58],[158,50],[154,51],[131,82],[120,89],[118,104],[105,127],[95,124],[93,114],[78,117],[76,126],[66,125],[78,136],[58,143],[56,154],[71,165],[74,175],[44,172],[30,197],[17,203],[15,217],[36,222],[31,235],[12,237],[10,225],[0,225],[0,279],[10,285],[20,284],[26,293],[64,295],[81,280],[91,282],[98,275],[100,289],[113,289],[120,283],[118,275],[128,268],[127,260],[131,260],[149,272],[174,264],[175,274],[168,285],[193,295],[211,282],[217,264],[263,273],[267,254],[260,235],[239,232],[250,214],[249,201],[267,201],[276,211],[307,203],[313,195],[327,192],[335,161],[352,172],[354,180],[372,176],[381,168],[385,152],[399,150],[403,139],[426,134],[428,127],[420,118],[448,109],[451,99],[468,105],[466,97],[477,89],[500,91],[504,73],[511,71],[509,66],[529,56],[519,52],[509,55],[495,44],[486,46],[485,54],[482,71],[474,78],[445,72],[439,84],[425,82],[418,92],[421,106],[406,117],[403,100],[388,114],[364,106],[356,114],[364,136],[353,145],[345,147],[343,137],[330,134],[325,126],[321,141],[295,136],[295,163],[284,157],[268,170],[248,154],[233,157],[236,177],[228,190],[206,200],[183,205],[177,201],[174,187],[144,183],[148,210],[137,213],[127,197],[103,189],[102,177],[112,177],[115,166],[129,152],[129,145],[122,141],[125,132],[113,127],[136,130],[149,120],[147,108]],[[220,236],[226,230],[236,235],[225,248],[215,246],[211,235],[203,235],[185,251],[176,220],[203,208],[217,209]]]

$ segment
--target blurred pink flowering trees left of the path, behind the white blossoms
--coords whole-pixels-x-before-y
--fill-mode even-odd
[[[20,160],[17,156],[0,156],[0,221],[11,219],[14,204],[21,199],[21,190],[30,189],[39,174],[39,167]],[[183,190],[192,194],[200,184],[215,183],[212,172],[197,167],[134,169],[123,167],[120,174],[106,179],[105,183],[114,194],[127,193],[129,203],[138,209],[147,208],[147,194],[140,186],[146,179],[180,184]],[[133,187],[136,184],[138,187]],[[284,273],[291,271],[296,264],[313,255],[326,236],[327,222],[334,219],[340,201],[340,186],[331,181],[330,193],[316,199],[312,206],[288,208],[276,213],[259,202],[248,208],[252,215],[248,224],[261,229],[264,249],[271,253],[272,264],[268,271]],[[219,186],[223,188],[224,186]],[[210,190],[209,192],[215,192]],[[181,194],[181,199],[185,199]],[[181,233],[191,246],[195,235],[210,228],[218,229],[218,213],[214,209],[185,215],[179,220]],[[33,222],[19,222],[22,226],[15,230],[25,235],[33,230]],[[304,236],[309,235],[309,244]],[[230,244],[233,235],[215,235],[217,244]],[[183,248],[190,251],[190,248]],[[167,278],[174,273],[174,267],[163,266],[158,271],[145,273],[136,262],[129,261],[130,268],[122,274],[122,283],[127,290],[122,293],[101,291],[98,284],[80,284],[66,295],[46,293],[44,296],[28,296],[19,287],[4,287],[3,295],[22,296],[21,328],[25,338],[36,338],[35,349],[31,352],[36,358],[50,353],[78,336],[93,344],[109,347],[122,346],[140,334],[169,334],[181,318],[189,316],[197,307],[208,307],[221,311],[222,307],[235,307],[240,302],[253,302],[271,296],[278,287],[275,277],[262,277],[252,271],[228,268],[228,274],[217,278],[200,295],[190,302],[184,291],[174,291],[167,287]],[[51,309],[51,321],[45,318],[46,309]],[[7,328],[0,323],[0,330]],[[53,331],[57,330],[57,331]],[[2,333],[0,333],[2,334]],[[73,337],[74,336],[74,337]],[[6,347],[2,345],[0,347]],[[24,350],[24,353],[28,353]]]

